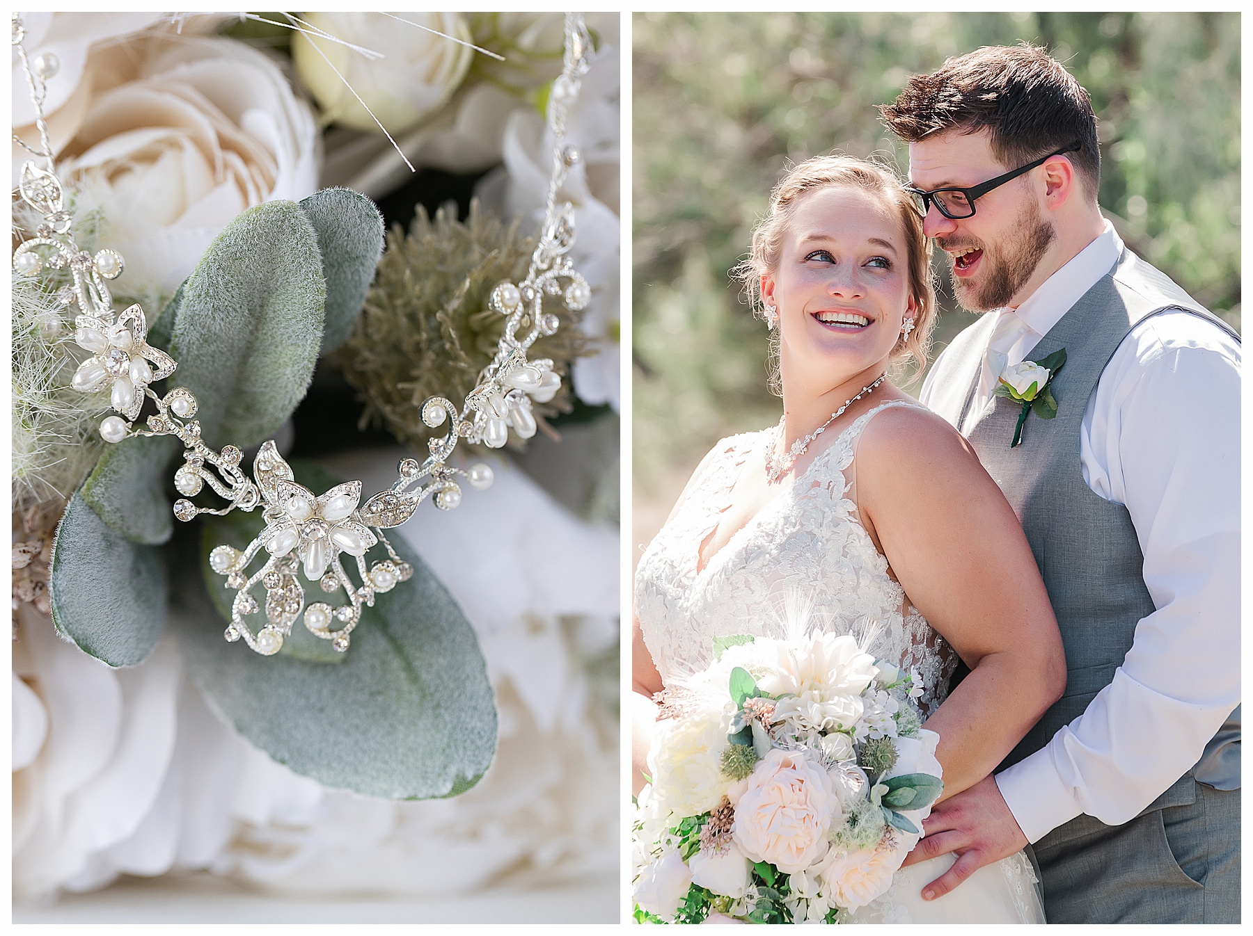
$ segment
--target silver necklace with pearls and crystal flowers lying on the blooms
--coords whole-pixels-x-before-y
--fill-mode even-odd
[[[278,454],[274,443],[266,442],[253,462],[248,478],[239,463],[243,453],[236,445],[214,452],[200,440],[200,424],[193,419],[197,400],[190,390],[174,388],[158,395],[152,385],[174,373],[178,364],[164,352],[147,343],[148,325],[139,305],[132,305],[115,318],[113,298],[105,280],[122,273],[123,260],[115,250],[100,250],[94,257],[81,252],[70,233],[71,216],[64,210],[63,188],[55,174],[46,121],[43,114],[44,74],[33,70],[23,46],[24,31],[14,16],[15,46],[35,103],[41,150],[35,155],[46,160],[40,169],[34,161],[21,168],[19,193],[23,200],[39,211],[44,223],[36,237],[14,252],[13,268],[19,275],[35,275],[44,267],[69,267],[73,287],[64,288],[59,302],[78,305],[75,342],[91,352],[74,374],[73,387],[84,393],[110,389],[110,405],[118,415],[100,423],[105,442],[118,443],[134,437],[177,435],[185,448],[184,464],[174,474],[174,487],[182,498],[174,502],[174,516],[190,521],[198,514],[226,514],[238,508],[244,512],[262,508],[266,526],[244,549],[219,546],[209,554],[209,566],[227,577],[227,587],[238,592],[232,606],[228,641],[243,641],[257,653],[271,656],[292,632],[292,624],[304,612],[306,628],[343,652],[348,636],[361,618],[362,604],[373,606],[375,596],[387,592],[412,576],[411,566],[400,559],[382,531],[397,527],[430,497],[435,506],[451,511],[461,503],[459,478],[470,487],[491,486],[492,472],[486,464],[461,469],[449,464],[460,439],[471,444],[500,448],[512,429],[519,438],[535,434],[536,423],[531,400],[544,403],[561,385],[561,377],[549,359],[529,360],[526,352],[540,335],[556,332],[559,319],[544,312],[544,298],[559,298],[566,308],[579,312],[591,300],[588,282],[575,272],[566,255],[574,245],[574,214],[570,203],[558,204],[556,194],[566,173],[580,160],[579,150],[565,144],[565,121],[578,99],[580,81],[590,65],[591,39],[578,14],[565,15],[565,58],[561,74],[553,81],[548,103],[548,125],[554,138],[553,171],[549,176],[546,210],[539,244],[521,283],[501,283],[491,293],[489,307],[505,315],[507,322],[496,355],[479,375],[477,387],[457,408],[444,397],[432,397],[422,404],[422,420],[435,428],[449,423],[444,438],[431,438],[430,455],[419,462],[406,458],[400,463],[398,478],[388,491],[375,494],[360,506],[361,482],[338,484],[317,496],[297,484],[292,469]],[[152,399],[157,413],[137,428],[135,420],[144,399]],[[211,471],[211,468],[213,471]],[[425,483],[424,483],[425,481]],[[189,499],[208,484],[227,501],[226,507],[197,507]],[[367,569],[365,554],[382,543],[390,559],[376,562]],[[248,566],[262,551],[264,564],[248,573]],[[356,559],[361,586],[346,574],[340,556]],[[341,588],[348,604],[332,608],[317,602],[304,607],[304,589],[299,574],[318,582],[327,593]],[[246,618],[261,608],[252,596],[257,583],[266,588],[266,623],[256,633]],[[332,621],[340,627],[332,629]]]

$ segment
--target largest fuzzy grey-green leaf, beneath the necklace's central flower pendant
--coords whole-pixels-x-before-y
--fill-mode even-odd
[[[315,491],[333,483],[311,465],[292,467],[297,481]],[[238,536],[238,528],[212,518],[204,524],[200,559],[218,543],[242,546]],[[352,646],[336,664],[282,653],[262,657],[242,642],[227,643],[227,621],[214,609],[195,562],[179,564],[175,633],[213,706],[279,763],[365,796],[455,796],[491,763],[491,684],[456,602],[403,539],[396,537],[393,544],[413,566],[413,577],[363,611]],[[213,578],[221,591],[223,579]]]

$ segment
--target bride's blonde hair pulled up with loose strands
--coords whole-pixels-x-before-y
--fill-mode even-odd
[[[901,219],[901,233],[908,254],[910,294],[917,302],[913,330],[897,340],[888,358],[892,364],[912,362],[917,369],[927,363],[931,330],[936,320],[936,290],[931,275],[931,242],[922,234],[918,216],[910,195],[901,188],[901,179],[887,165],[857,159],[856,156],[829,155],[807,159],[784,175],[771,193],[771,206],[766,216],[753,229],[753,245],[748,258],[732,270],[744,285],[753,310],[766,318],[762,307],[762,277],[778,265],[783,249],[787,223],[802,196],[833,185],[850,185],[872,191],[882,198]],[[771,389],[778,393],[778,330],[771,338]]]

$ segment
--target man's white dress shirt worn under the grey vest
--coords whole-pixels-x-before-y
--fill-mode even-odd
[[[1121,250],[1106,221],[1017,308],[1030,329],[1010,364]],[[928,378],[922,403],[930,390]],[[1084,482],[1130,513],[1157,611],[1136,624],[1114,681],[1084,713],[996,775],[1030,842],[1081,813],[1131,820],[1200,758],[1239,705],[1239,344],[1190,313],[1140,322],[1101,372],[1079,432]]]

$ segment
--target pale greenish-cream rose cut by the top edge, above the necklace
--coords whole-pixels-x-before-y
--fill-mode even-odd
[[[375,123],[377,118],[387,133],[396,136],[442,108],[465,80],[475,51],[465,45],[471,35],[461,14],[410,11],[397,15],[407,23],[381,13],[304,14],[315,29],[382,54],[382,58],[367,58],[328,39],[304,33],[293,36],[296,70],[330,120],[381,133]]]

